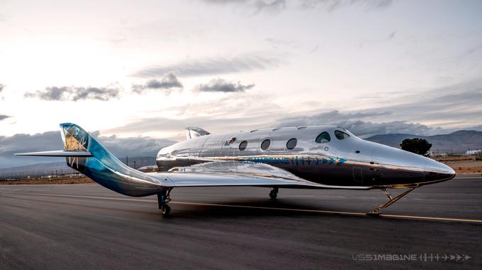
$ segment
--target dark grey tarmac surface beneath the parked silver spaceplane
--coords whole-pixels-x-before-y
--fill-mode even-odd
[[[1,185],[0,269],[482,269],[481,177],[420,187],[379,217],[364,215],[379,190],[268,192],[178,188],[163,218],[157,197],[97,184]]]

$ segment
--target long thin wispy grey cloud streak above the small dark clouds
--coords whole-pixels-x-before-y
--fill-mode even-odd
[[[279,59],[259,54],[244,54],[231,58],[186,59],[174,64],[162,64],[146,67],[135,72],[133,76],[149,78],[163,76],[173,72],[178,76],[203,76],[237,73],[267,69],[277,66]]]

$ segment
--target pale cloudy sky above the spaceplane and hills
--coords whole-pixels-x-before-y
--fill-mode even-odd
[[[57,140],[62,122],[125,151],[190,126],[482,130],[481,13],[469,0],[2,0],[0,168],[53,150],[30,140]]]

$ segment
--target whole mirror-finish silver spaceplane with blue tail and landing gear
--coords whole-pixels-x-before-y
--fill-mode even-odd
[[[120,162],[76,124],[60,124],[63,151],[21,153],[65,157],[67,164],[95,182],[128,196],[157,194],[159,209],[174,187],[252,186],[280,188],[381,189],[388,201],[380,213],[416,187],[450,180],[454,170],[430,158],[364,141],[342,127],[286,127],[210,134],[196,127],[186,141],[162,148],[159,172],[140,172]],[[407,188],[392,197],[387,188]]]

